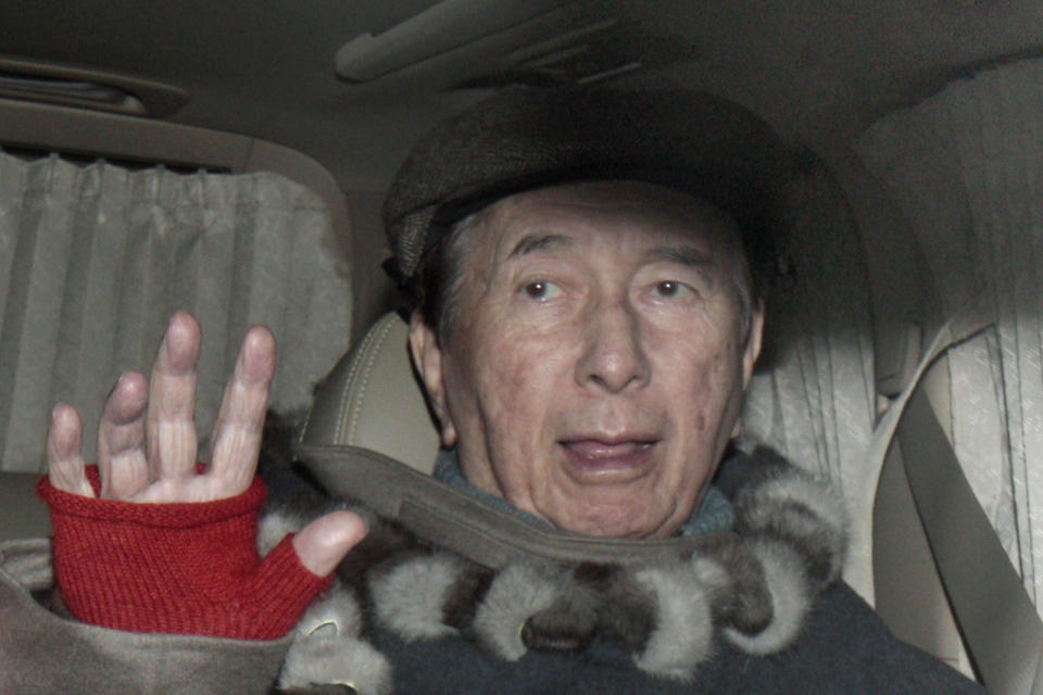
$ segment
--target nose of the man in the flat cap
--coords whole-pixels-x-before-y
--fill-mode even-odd
[[[648,382],[651,368],[644,352],[641,317],[626,299],[599,302],[588,312],[582,353],[576,364],[581,387],[610,393]]]

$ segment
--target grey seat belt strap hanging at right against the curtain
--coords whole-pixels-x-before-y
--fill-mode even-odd
[[[995,695],[1043,695],[1043,621],[917,388],[939,355],[990,323],[969,309],[943,326],[875,439],[890,442],[897,433],[931,555],[985,687]]]

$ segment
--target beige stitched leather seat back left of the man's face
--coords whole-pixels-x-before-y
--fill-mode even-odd
[[[414,376],[407,326],[385,314],[319,386],[304,444],[350,444],[430,472],[438,455],[424,392]]]

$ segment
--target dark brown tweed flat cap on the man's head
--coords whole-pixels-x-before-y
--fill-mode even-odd
[[[513,88],[437,125],[391,185],[384,223],[407,283],[449,226],[497,199],[626,178],[709,199],[759,225],[786,152],[744,108],[700,92]]]

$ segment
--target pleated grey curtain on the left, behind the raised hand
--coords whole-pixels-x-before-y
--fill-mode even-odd
[[[322,200],[274,174],[0,152],[0,469],[43,469],[59,401],[80,409],[91,456],[105,395],[122,371],[148,374],[177,309],[203,327],[201,437],[253,324],[279,342],[273,406],[306,408],[350,342],[349,267],[332,233]]]

